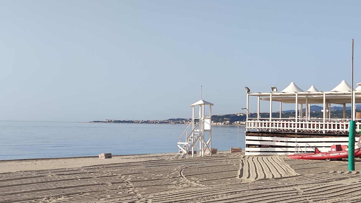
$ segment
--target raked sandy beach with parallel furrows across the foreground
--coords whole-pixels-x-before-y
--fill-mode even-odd
[[[0,202],[358,202],[361,160],[174,159],[174,153],[0,161]]]

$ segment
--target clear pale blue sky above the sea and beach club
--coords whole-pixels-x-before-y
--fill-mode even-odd
[[[201,85],[213,114],[244,112],[244,86],[351,85],[352,39],[361,82],[360,11],[361,1],[0,1],[0,120],[191,117]]]

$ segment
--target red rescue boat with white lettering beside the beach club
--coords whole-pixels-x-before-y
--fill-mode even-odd
[[[332,145],[331,151],[320,152],[317,147],[314,147],[315,152],[312,153],[299,153],[288,155],[291,159],[309,159],[309,160],[327,160],[331,159],[346,159],[348,158],[347,146],[340,144]],[[355,149],[355,157],[361,156],[360,147]]]

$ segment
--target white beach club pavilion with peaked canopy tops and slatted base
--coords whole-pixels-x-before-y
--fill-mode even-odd
[[[361,83],[357,85],[361,85]],[[328,151],[332,144],[348,145],[351,118],[345,116],[346,104],[351,104],[351,97],[353,97],[351,108],[355,109],[355,103],[361,103],[361,86],[353,90],[353,94],[351,90],[351,86],[344,80],[330,91],[319,91],[314,86],[303,91],[294,82],[280,92],[277,92],[277,88],[272,87],[272,92],[251,93],[246,87],[245,154],[288,155],[301,149],[312,151],[311,146],[316,146],[321,151]],[[249,96],[257,97],[256,118],[249,117]],[[269,118],[260,117],[260,100],[269,101]],[[277,108],[272,106],[273,102],[279,102],[277,117],[272,117],[272,112]],[[282,117],[282,104],[284,103],[295,104],[294,117]],[[310,117],[310,104],[322,104],[322,118]],[[343,118],[331,117],[331,104],[343,105]],[[303,112],[303,107],[305,107],[305,112]],[[357,133],[361,131],[361,119],[355,118],[355,115],[356,113],[351,116],[356,121]],[[357,140],[358,136],[355,141]]]

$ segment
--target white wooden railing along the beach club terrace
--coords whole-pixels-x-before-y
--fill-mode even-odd
[[[347,134],[350,119],[297,119],[295,118],[249,118],[246,121],[246,129],[257,131],[294,132],[294,133],[329,133]],[[356,121],[356,132],[361,131],[361,121]]]

